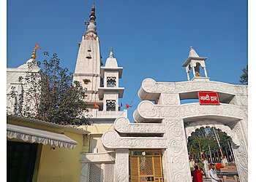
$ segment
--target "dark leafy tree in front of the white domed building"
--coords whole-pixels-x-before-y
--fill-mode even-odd
[[[85,90],[79,82],[72,82],[72,74],[67,68],[61,68],[56,53],[49,60],[49,53],[43,53],[42,66],[31,61],[26,76],[19,79],[24,89],[17,104],[18,115],[57,124],[89,124],[83,101]],[[40,66],[38,72],[32,71],[34,65]]]

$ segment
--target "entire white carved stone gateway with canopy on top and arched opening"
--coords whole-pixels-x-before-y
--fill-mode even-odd
[[[194,78],[188,82],[145,79],[138,91],[143,101],[134,113],[135,123],[118,118],[115,130],[102,135],[105,148],[116,151],[115,181],[128,182],[129,175],[136,182],[145,176],[152,177],[152,181],[192,181],[187,138],[197,128],[206,126],[219,128],[232,138],[239,178],[247,181],[247,87],[209,81],[205,60],[191,48],[184,63],[188,79],[193,69]],[[205,77],[200,76],[199,66]],[[180,100],[197,99],[200,91],[217,92],[219,104],[181,104]],[[155,160],[157,155],[160,161]]]

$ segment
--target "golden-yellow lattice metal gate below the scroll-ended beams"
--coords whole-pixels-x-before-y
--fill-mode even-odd
[[[160,150],[132,150],[129,155],[131,182],[162,182]]]

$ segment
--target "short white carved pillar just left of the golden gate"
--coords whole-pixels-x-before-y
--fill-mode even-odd
[[[115,182],[129,182],[128,149],[116,149]]]

